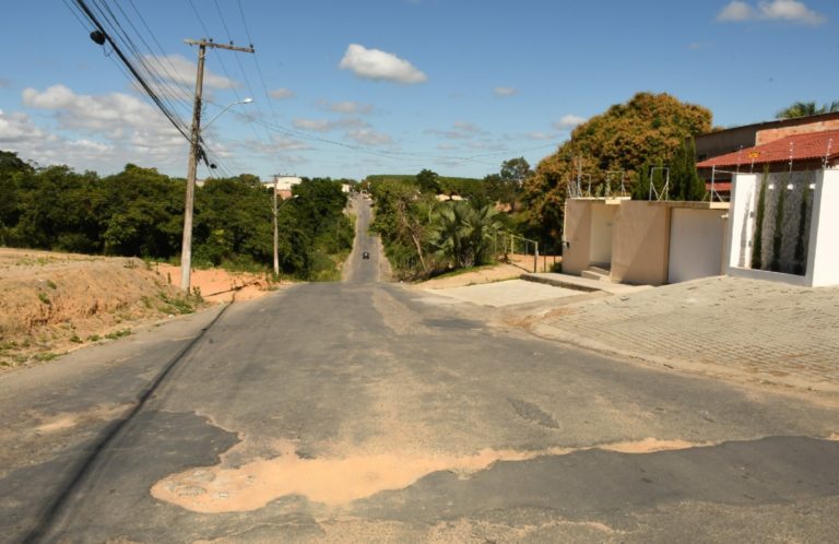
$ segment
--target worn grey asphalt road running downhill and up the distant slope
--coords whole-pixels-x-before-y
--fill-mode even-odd
[[[0,540],[836,542],[835,409],[377,282],[358,216],[345,282],[0,376]]]

